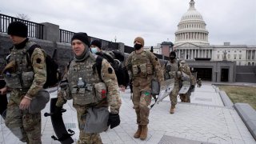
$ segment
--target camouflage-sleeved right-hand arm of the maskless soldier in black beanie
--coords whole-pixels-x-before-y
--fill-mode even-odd
[[[114,74],[114,69],[106,59],[102,60],[102,80],[107,88],[107,102],[110,105],[110,113],[118,114],[122,104],[120,93],[118,90],[118,79]]]

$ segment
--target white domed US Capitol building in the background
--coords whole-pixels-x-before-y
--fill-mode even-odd
[[[177,58],[186,60],[197,78],[211,82],[256,82],[256,46],[210,45],[206,22],[190,0],[190,8],[182,15],[175,32],[175,41],[158,46],[145,46],[156,54],[169,56],[174,50]]]

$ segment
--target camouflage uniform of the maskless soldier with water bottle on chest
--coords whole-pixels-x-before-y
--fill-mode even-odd
[[[84,61],[70,62],[70,66],[64,74],[63,81],[67,80],[68,86],[66,90],[58,92],[58,101],[56,106],[62,106],[66,100],[73,99],[73,106],[77,110],[78,127],[80,130],[78,143],[102,143],[99,134],[88,134],[84,130],[86,123],[86,109],[89,107],[110,106],[110,113],[118,114],[121,106],[121,98],[118,90],[118,82],[113,68],[106,59],[102,60],[102,70],[100,71],[102,81],[106,84],[106,98],[98,98],[95,96],[94,90],[86,90],[84,95],[77,94],[76,85],[78,78],[85,80],[86,84],[94,86],[98,82],[102,82],[98,76],[98,71],[94,69],[96,63],[96,55],[86,51]],[[89,98],[90,97],[90,98]]]

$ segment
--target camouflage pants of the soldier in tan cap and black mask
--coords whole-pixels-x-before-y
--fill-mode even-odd
[[[140,91],[139,86],[133,87],[133,103],[134,109],[137,115],[138,125],[147,125],[149,123],[150,115],[150,102],[151,94],[150,91]]]

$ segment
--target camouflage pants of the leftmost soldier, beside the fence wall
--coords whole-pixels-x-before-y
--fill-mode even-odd
[[[22,142],[40,144],[41,113],[29,114],[28,110],[20,110],[19,103],[10,99],[6,111],[6,126]]]

